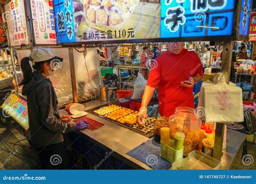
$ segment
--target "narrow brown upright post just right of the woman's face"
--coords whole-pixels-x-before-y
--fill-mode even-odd
[[[78,102],[78,98],[77,98],[77,82],[76,82],[75,61],[74,61],[73,47],[69,47],[69,62],[70,62],[70,75],[71,75],[73,102],[77,103]]]

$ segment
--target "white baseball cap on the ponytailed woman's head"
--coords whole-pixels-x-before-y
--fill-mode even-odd
[[[33,63],[52,60],[55,62],[62,62],[63,58],[54,55],[50,48],[35,48],[30,54],[30,60]]]

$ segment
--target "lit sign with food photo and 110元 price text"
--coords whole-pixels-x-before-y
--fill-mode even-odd
[[[56,0],[54,8],[58,43],[160,38],[158,0]]]

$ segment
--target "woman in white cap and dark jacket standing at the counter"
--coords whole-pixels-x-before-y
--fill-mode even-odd
[[[23,85],[22,94],[28,102],[31,143],[38,150],[43,169],[70,169],[69,151],[62,134],[88,126],[86,122],[76,124],[60,120],[57,96],[48,76],[55,62],[62,61],[50,48],[34,49],[30,57],[21,60],[23,81],[19,85]],[[59,157],[57,166],[53,155]]]

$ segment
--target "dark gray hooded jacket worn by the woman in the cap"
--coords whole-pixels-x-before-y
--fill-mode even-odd
[[[57,96],[49,78],[34,72],[31,81],[23,86],[22,95],[28,101],[31,142],[35,147],[60,143],[62,133],[76,130],[76,123],[60,121]]]

